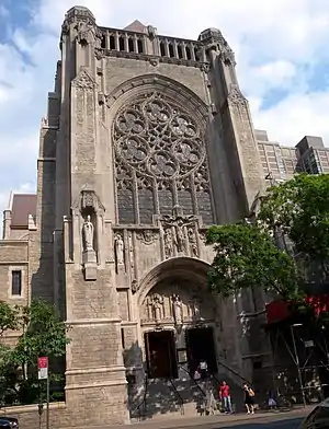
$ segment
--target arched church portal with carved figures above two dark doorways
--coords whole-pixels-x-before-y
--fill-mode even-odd
[[[173,258],[146,278],[139,295],[140,329],[151,379],[180,379],[186,371],[192,375],[201,359],[216,373],[219,309],[207,289],[207,269],[197,259]]]

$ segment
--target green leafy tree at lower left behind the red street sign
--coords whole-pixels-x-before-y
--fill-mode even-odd
[[[45,301],[34,300],[30,306],[14,308],[0,302],[0,332],[8,331],[16,331],[19,339],[14,347],[3,340],[0,344],[0,401],[2,404],[38,402],[44,385],[37,380],[37,358],[47,356],[52,366],[65,356],[69,343],[67,326],[56,308]],[[49,374],[57,385],[61,378],[56,372]]]

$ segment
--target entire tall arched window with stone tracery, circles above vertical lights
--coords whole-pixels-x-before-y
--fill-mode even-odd
[[[117,114],[113,137],[120,223],[152,223],[174,205],[212,223],[203,124],[155,92]]]

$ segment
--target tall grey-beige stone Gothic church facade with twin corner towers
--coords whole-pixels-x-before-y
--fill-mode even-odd
[[[232,50],[216,28],[195,40],[105,28],[82,7],[60,49],[37,195],[4,211],[0,269],[2,299],[48,299],[70,326],[69,426],[127,422],[146,389],[154,415],[192,410],[201,360],[257,382],[270,368],[263,299],[224,301],[206,280],[207,228],[243,219],[264,186]]]

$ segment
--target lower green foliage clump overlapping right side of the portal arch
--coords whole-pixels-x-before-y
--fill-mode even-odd
[[[284,299],[299,295],[295,260],[256,225],[212,227],[206,242],[216,253],[208,271],[213,290],[226,297],[246,288],[262,288]]]

